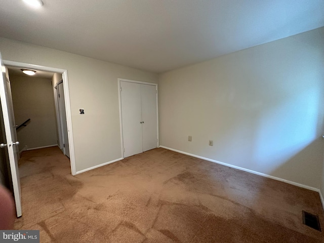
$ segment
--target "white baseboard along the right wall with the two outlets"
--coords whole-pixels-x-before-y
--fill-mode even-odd
[[[309,189],[309,190],[312,190],[312,191],[317,191],[319,193],[319,195],[321,196],[320,190],[318,188],[315,188],[315,187],[306,186],[306,185],[303,185],[303,184],[300,184],[300,183],[297,183],[297,182],[293,182],[293,181],[289,181],[289,180],[285,180],[285,179],[282,179],[282,178],[279,178],[279,177],[270,176],[270,175],[267,175],[267,174],[263,174],[263,173],[260,173],[260,172],[252,171],[252,170],[245,169],[245,168],[241,168],[241,167],[238,167],[238,166],[233,166],[233,165],[226,164],[226,163],[223,163],[223,162],[214,160],[214,159],[205,158],[205,157],[198,156],[198,155],[195,155],[195,154],[183,152],[183,151],[180,151],[180,150],[177,150],[177,149],[168,148],[168,147],[165,147],[165,146],[159,146],[159,147],[165,148],[165,149],[169,149],[169,150],[172,150],[172,151],[175,151],[175,152],[178,152],[178,153],[183,153],[183,154],[186,154],[186,155],[190,155],[192,157],[205,159],[205,160],[208,160],[208,161],[211,161],[211,162],[214,162],[214,163],[223,165],[223,166],[231,167],[231,168],[234,168],[234,169],[237,169],[237,170],[249,172],[249,173],[252,173],[252,174],[259,175],[259,176],[264,176],[264,177],[271,178],[271,179],[274,179],[274,180],[277,180],[277,181],[286,182],[288,184],[292,184],[292,185],[295,185],[295,186],[299,186],[299,187],[302,187],[302,188],[306,188],[306,189]],[[322,205],[324,206],[323,198],[321,198],[321,201],[322,201]]]

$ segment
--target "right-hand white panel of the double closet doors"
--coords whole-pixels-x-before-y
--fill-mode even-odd
[[[156,86],[141,85],[143,151],[157,147]]]

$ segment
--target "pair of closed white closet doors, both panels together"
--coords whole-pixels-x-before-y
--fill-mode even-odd
[[[156,86],[120,82],[124,157],[157,147]]]

